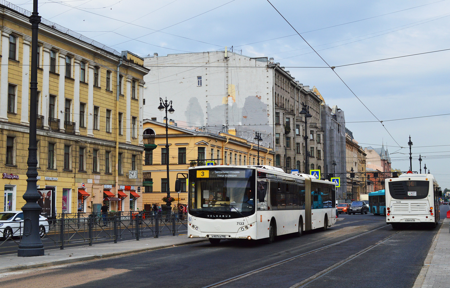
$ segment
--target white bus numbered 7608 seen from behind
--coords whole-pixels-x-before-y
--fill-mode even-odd
[[[436,226],[442,192],[432,174],[403,174],[385,184],[387,224],[394,229],[409,223]]]

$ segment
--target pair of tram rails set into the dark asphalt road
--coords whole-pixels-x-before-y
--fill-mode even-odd
[[[284,264],[284,263],[286,263],[286,262],[292,261],[292,260],[297,259],[297,258],[299,258],[299,257],[303,257],[303,256],[306,256],[306,255],[310,255],[310,254],[312,254],[312,253],[316,253],[316,252],[322,251],[322,250],[324,250],[324,249],[327,249],[327,248],[330,248],[330,247],[333,247],[333,246],[336,246],[336,245],[345,243],[345,242],[350,241],[350,240],[352,240],[352,239],[356,239],[356,238],[358,238],[358,237],[360,237],[360,236],[369,234],[369,233],[371,233],[371,232],[374,232],[374,231],[376,231],[376,230],[385,228],[385,227],[387,227],[387,226],[390,226],[390,225],[385,225],[385,226],[378,227],[378,228],[373,229],[373,230],[370,230],[370,231],[366,231],[366,232],[364,232],[364,233],[361,233],[361,234],[352,236],[352,237],[347,238],[347,239],[343,239],[343,240],[338,241],[338,242],[336,242],[336,243],[329,244],[329,245],[326,245],[326,246],[324,246],[324,247],[316,248],[316,249],[310,250],[310,251],[308,251],[308,252],[305,252],[305,253],[302,253],[302,254],[299,254],[299,255],[296,255],[296,256],[293,256],[293,257],[289,257],[289,258],[286,258],[286,259],[284,259],[284,260],[277,261],[277,262],[275,262],[275,263],[272,263],[272,264],[269,264],[269,265],[266,265],[266,266],[263,266],[263,267],[260,267],[260,268],[257,268],[257,269],[248,271],[248,272],[246,272],[246,273],[243,273],[243,274],[240,274],[240,275],[236,275],[236,276],[234,276],[234,277],[231,277],[231,278],[228,278],[228,279],[224,279],[224,280],[222,280],[222,281],[219,281],[219,282],[216,282],[216,283],[207,285],[207,286],[203,286],[202,288],[215,288],[215,287],[219,287],[219,286],[222,286],[222,285],[227,284],[227,283],[230,283],[230,282],[234,282],[234,281],[239,280],[239,279],[243,279],[243,278],[245,278],[245,277],[247,277],[247,276],[254,275],[254,274],[257,274],[257,273],[259,273],[259,272],[262,272],[262,271],[265,271],[265,270],[274,268],[274,267],[276,267],[276,266],[279,266],[279,265]],[[394,235],[396,235],[397,233],[400,233],[400,232],[401,232],[401,231],[398,231],[398,232],[396,232],[395,234],[390,235],[390,236],[388,236],[387,238],[385,238],[385,239],[383,239],[383,240],[377,242],[376,244],[373,244],[373,245],[371,245],[371,246],[369,246],[369,247],[366,247],[365,249],[360,250],[359,252],[357,252],[357,253],[351,255],[350,257],[344,259],[343,261],[340,261],[340,262],[336,263],[335,265],[333,265],[333,266],[331,266],[331,267],[329,267],[329,268],[327,268],[327,269],[321,271],[322,274],[320,274],[321,272],[319,272],[319,273],[318,273],[319,275],[316,274],[316,275],[311,276],[311,277],[310,277],[311,279],[308,278],[308,279],[310,279],[310,280],[308,281],[308,283],[303,283],[303,281],[306,281],[306,280],[307,280],[307,279],[306,279],[306,280],[303,280],[302,282],[297,283],[299,286],[295,286],[295,285],[297,285],[297,284],[294,284],[294,286],[292,286],[292,288],[294,288],[294,287],[295,287],[295,288],[297,288],[297,287],[299,288],[299,287],[306,286],[306,285],[309,284],[312,280],[320,278],[320,277],[323,276],[325,273],[329,273],[329,272],[331,271],[331,269],[334,270],[334,269],[338,268],[339,266],[344,265],[344,264],[347,263],[348,261],[351,261],[351,259],[353,259],[353,258],[355,258],[355,257],[358,257],[360,254],[365,253],[365,252],[369,251],[369,250],[372,249],[372,248],[375,248],[375,247],[378,246],[379,244],[382,244],[384,241],[386,241],[387,239],[391,238],[392,236],[394,236]],[[330,268],[331,268],[331,269],[330,269]],[[315,278],[313,279],[312,277],[315,277]]]

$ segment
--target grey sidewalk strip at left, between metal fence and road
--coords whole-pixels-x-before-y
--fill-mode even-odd
[[[116,244],[93,244],[92,246],[64,248],[64,250],[49,249],[45,250],[45,256],[40,257],[17,257],[17,254],[0,255],[0,273],[114,257],[203,241],[207,241],[207,239],[191,239],[186,235],[160,236],[159,238],[141,238],[139,241],[120,241]]]

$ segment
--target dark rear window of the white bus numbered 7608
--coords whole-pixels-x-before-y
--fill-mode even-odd
[[[423,199],[428,196],[429,185],[429,181],[392,181],[389,193],[393,199]]]

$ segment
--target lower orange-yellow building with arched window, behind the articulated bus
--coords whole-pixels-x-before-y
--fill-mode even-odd
[[[148,210],[152,204],[165,204],[162,197],[166,196],[167,170],[166,170],[166,126],[153,120],[143,121],[144,137],[144,166],[143,166],[143,204]],[[206,165],[214,162],[216,165],[257,165],[257,143],[234,135],[235,130],[229,133],[214,133],[201,129],[185,129],[169,120],[169,180],[171,196],[175,198],[172,208],[177,202],[187,204],[186,180],[181,173],[187,176],[188,168]],[[266,147],[259,146],[259,159],[261,165],[273,165],[275,152]],[[182,179],[181,191],[176,193],[175,180]],[[152,186],[148,186],[152,185]]]

